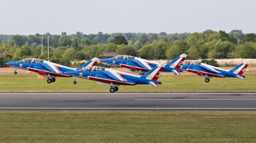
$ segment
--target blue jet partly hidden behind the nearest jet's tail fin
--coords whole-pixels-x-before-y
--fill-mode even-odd
[[[166,64],[163,72],[173,72],[175,75],[180,75],[180,66],[186,59],[186,54],[181,54],[179,57],[173,59],[170,63]],[[152,70],[158,63],[153,61],[148,61],[146,59],[141,59],[140,57],[120,55],[111,57],[109,59],[100,59],[103,64],[122,66],[124,68],[129,68],[132,72],[138,72],[140,75]]]

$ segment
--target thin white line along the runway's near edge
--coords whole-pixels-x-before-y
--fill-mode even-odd
[[[214,109],[214,110],[225,110],[225,109],[234,109],[234,110],[256,110],[256,108],[33,108],[33,107],[0,107],[1,110],[13,109],[13,110],[20,110],[20,109],[52,109],[52,110],[71,110],[71,109]]]

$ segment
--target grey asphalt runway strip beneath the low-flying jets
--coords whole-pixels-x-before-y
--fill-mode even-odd
[[[0,110],[256,110],[256,93],[0,93]]]

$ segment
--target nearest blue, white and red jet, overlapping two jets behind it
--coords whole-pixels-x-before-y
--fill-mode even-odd
[[[162,63],[157,64],[157,66],[144,75],[132,75],[99,66],[87,66],[76,71],[65,72],[65,74],[82,79],[95,80],[98,84],[110,86],[109,91],[114,93],[118,91],[118,86],[120,85],[135,86],[136,84],[150,84],[151,86],[158,86],[161,82],[157,81],[157,79],[161,75],[164,65]]]

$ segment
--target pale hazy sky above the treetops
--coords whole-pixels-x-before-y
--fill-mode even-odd
[[[255,0],[0,0],[0,34],[256,33]]]

